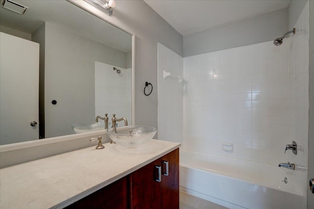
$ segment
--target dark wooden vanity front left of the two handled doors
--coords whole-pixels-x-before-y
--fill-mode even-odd
[[[128,209],[128,177],[80,199],[66,209]]]

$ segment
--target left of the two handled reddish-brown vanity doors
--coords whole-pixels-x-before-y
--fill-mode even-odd
[[[160,209],[161,184],[156,181],[160,159],[130,174],[131,209]]]

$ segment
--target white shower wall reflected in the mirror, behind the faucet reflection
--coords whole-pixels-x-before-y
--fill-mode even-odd
[[[117,118],[126,117],[131,125],[132,70],[118,68],[121,70],[118,74],[112,69],[113,67],[115,66],[95,62],[95,118],[96,116],[104,117],[107,113],[111,124],[112,114],[116,114]],[[104,122],[104,120],[99,120],[99,122]],[[124,121],[117,124],[119,127],[124,126]]]

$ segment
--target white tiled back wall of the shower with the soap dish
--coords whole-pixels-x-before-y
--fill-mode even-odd
[[[184,147],[261,163],[288,138],[288,45],[272,42],[184,58]],[[291,139],[292,140],[292,139]],[[234,143],[234,151],[221,149]],[[284,159],[282,159],[284,160]]]

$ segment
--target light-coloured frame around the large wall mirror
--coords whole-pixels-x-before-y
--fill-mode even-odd
[[[75,6],[78,6],[79,8],[85,10],[86,12],[94,15],[96,18],[100,18],[101,20],[105,21],[106,23],[109,23],[121,30],[123,30],[126,33],[129,33],[132,36],[132,102],[131,102],[131,116],[132,116],[132,125],[135,124],[135,34],[131,31],[128,31],[120,26],[120,24],[108,16],[107,14],[101,12],[100,10],[97,10],[87,2],[84,2],[82,0],[67,0],[69,3],[74,4]],[[114,14],[113,14],[114,16]],[[28,147],[35,147],[35,146],[41,146],[41,145],[47,145],[52,143],[58,143],[63,141],[69,141],[73,139],[80,139],[80,138],[88,138],[93,137],[95,135],[103,135],[106,134],[107,130],[101,130],[101,131],[92,131],[92,132],[86,132],[81,134],[72,134],[72,135],[65,135],[60,137],[53,137],[53,138],[46,138],[46,139],[34,139],[30,141],[24,141],[24,142],[18,142],[18,143],[12,143],[12,144],[4,144],[0,145],[0,153],[1,152],[7,152],[17,149],[24,149]]]

